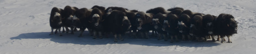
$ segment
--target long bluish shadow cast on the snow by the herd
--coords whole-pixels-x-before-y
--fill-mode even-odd
[[[16,37],[11,37],[10,39],[50,39],[52,42],[57,43],[73,43],[73,44],[81,44],[81,45],[105,45],[105,44],[133,44],[133,45],[145,45],[145,46],[185,46],[185,47],[212,47],[220,45],[220,42],[194,42],[194,41],[180,41],[170,43],[170,39],[168,41],[157,40],[157,37],[150,36],[150,39],[140,39],[140,38],[131,38],[129,33],[124,35],[124,41],[118,40],[118,42],[114,42],[114,36],[111,34],[109,38],[103,39],[92,39],[92,36],[89,35],[88,31],[84,31],[83,37],[77,37],[80,32],[75,32],[75,35],[70,33],[62,33],[63,36],[59,36],[59,34],[49,35],[50,32],[36,32],[36,33],[24,33],[20,34]],[[103,36],[105,37],[105,36]],[[33,41],[33,40],[31,40]]]

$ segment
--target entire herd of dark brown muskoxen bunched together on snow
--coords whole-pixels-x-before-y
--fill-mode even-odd
[[[71,34],[80,28],[82,37],[84,30],[87,28],[93,39],[100,39],[105,35],[108,38],[110,33],[115,37],[114,42],[124,40],[122,35],[129,32],[134,38],[150,38],[149,31],[152,30],[151,36],[158,36],[158,40],[164,37],[164,41],[171,37],[171,42],[182,41],[207,41],[207,38],[215,36],[218,41],[224,43],[223,37],[228,37],[228,43],[232,43],[230,36],[237,34],[237,21],[230,14],[221,13],[219,16],[191,12],[180,7],[165,10],[163,7],[149,9],[146,12],[137,10],[128,10],[122,7],[105,7],[95,5],[90,9],[66,6],[63,9],[54,7],[50,15],[50,26],[62,36],[62,33],[68,33],[70,27]],[[64,29],[66,28],[66,31]]]

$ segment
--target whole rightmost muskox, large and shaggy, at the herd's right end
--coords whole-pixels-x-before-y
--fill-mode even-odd
[[[233,34],[237,34],[237,21],[235,18],[230,14],[221,13],[218,18],[216,19],[215,31],[216,35],[220,35],[221,43],[224,43],[224,37],[228,37],[228,43],[232,43],[230,40],[230,36]]]

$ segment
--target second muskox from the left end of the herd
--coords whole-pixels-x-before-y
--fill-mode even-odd
[[[66,6],[65,8],[64,8],[64,13],[63,13],[63,17],[64,17],[64,19],[63,19],[63,21],[64,21],[64,27],[66,28],[66,33],[68,33],[69,32],[69,29],[68,29],[68,27],[70,27],[71,28],[71,34],[74,34],[74,28],[75,28],[75,21],[74,20],[76,20],[77,21],[77,19],[73,19],[73,16],[74,16],[74,13],[76,12],[76,10],[78,10],[78,8],[76,8],[76,7],[70,7],[70,6]],[[63,31],[64,31],[64,29],[63,29]]]

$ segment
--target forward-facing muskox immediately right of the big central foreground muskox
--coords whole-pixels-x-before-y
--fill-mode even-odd
[[[146,39],[149,38],[148,32],[149,30],[152,30],[153,27],[150,25],[152,23],[152,17],[153,13],[145,13],[145,12],[138,12],[135,16],[136,18],[136,26],[138,29],[138,32],[141,35],[141,38],[144,38],[144,34],[146,35]]]

